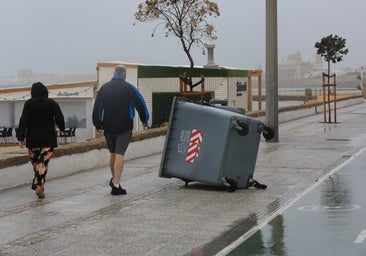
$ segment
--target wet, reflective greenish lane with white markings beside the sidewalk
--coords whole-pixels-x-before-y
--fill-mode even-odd
[[[365,192],[363,149],[228,255],[364,256]]]

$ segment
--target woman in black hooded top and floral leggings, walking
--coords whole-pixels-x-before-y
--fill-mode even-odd
[[[60,106],[48,98],[47,87],[41,82],[34,83],[31,98],[24,103],[17,129],[19,146],[28,148],[33,166],[32,189],[38,198],[44,198],[44,185],[48,163],[57,147],[55,123],[61,131],[65,130],[64,115]]]

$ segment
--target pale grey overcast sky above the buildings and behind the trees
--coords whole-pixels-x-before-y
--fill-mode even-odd
[[[133,23],[143,0],[0,0],[0,77],[96,74],[98,62],[188,65],[174,37],[151,37],[152,23]],[[265,67],[266,0],[216,0],[214,61],[244,69]],[[336,34],[349,49],[334,68],[366,65],[365,0],[278,0],[278,60],[300,51],[312,61],[314,44]],[[198,48],[195,65],[207,63]]]

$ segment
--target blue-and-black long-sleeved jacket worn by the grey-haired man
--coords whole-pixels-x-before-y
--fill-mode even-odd
[[[119,134],[133,129],[137,110],[141,122],[147,124],[149,112],[136,87],[123,77],[113,77],[98,91],[93,108],[93,124],[97,130]]]

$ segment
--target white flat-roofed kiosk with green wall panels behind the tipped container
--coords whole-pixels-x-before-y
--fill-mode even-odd
[[[170,99],[179,96],[179,76],[188,73],[188,67],[142,65],[121,61],[103,62],[97,64],[98,87],[108,82],[113,76],[116,65],[124,65],[127,69],[126,81],[135,85],[145,98],[153,127],[168,121],[170,112]],[[261,74],[261,71],[241,70],[233,68],[194,68],[193,82],[204,76],[204,91],[210,98],[226,99],[228,106],[248,109],[247,88],[251,84],[251,74]],[[256,75],[257,76],[257,75]],[[194,91],[201,90],[200,86]],[[165,119],[164,119],[165,118]],[[136,129],[141,129],[138,118],[135,120]]]

